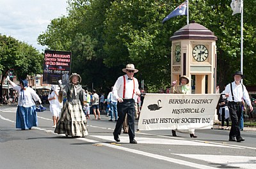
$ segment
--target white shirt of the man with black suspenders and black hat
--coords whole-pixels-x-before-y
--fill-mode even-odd
[[[247,105],[252,105],[251,100],[250,100],[250,96],[248,94],[248,91],[246,90],[246,87],[243,86],[242,84],[236,85],[235,82],[232,82],[232,89],[233,89],[233,95],[234,95],[234,100],[232,98],[232,93],[231,93],[231,89],[230,89],[230,84],[228,84],[225,88],[225,90],[222,92],[223,94],[228,93],[228,101],[235,101],[235,102],[241,102],[242,99],[244,99],[247,103]],[[244,90],[243,90],[244,88]]]

